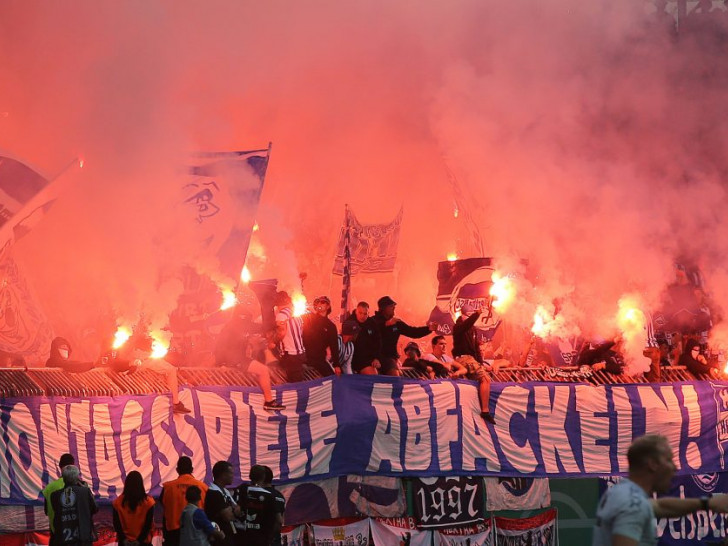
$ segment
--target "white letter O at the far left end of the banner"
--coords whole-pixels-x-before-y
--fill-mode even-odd
[[[21,402],[15,404],[12,414],[18,419],[13,419],[13,422],[8,423],[6,431],[11,456],[10,466],[15,476],[13,483],[18,486],[24,497],[32,499],[38,496],[38,480],[41,477],[40,472],[28,472],[27,470],[34,467],[42,468],[36,423],[28,406]],[[24,423],[26,426],[23,426]],[[21,437],[29,448],[26,451],[26,455],[30,457],[29,460],[24,461],[20,456],[20,446],[23,443],[20,440]]]

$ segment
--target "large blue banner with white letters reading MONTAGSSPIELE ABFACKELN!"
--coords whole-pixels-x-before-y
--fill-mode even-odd
[[[102,499],[131,470],[152,494],[180,455],[209,480],[219,460],[252,464],[280,482],[343,475],[584,477],[626,473],[635,436],[668,437],[681,475],[726,469],[728,383],[591,386],[493,384],[496,425],[480,417],[476,384],[343,376],[276,388],[263,409],[252,387],[167,396],[0,400],[0,502],[36,500],[70,451]]]

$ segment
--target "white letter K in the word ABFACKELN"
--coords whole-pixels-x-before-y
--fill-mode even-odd
[[[571,390],[568,387],[554,388],[553,402],[551,402],[551,394],[547,386],[534,386],[533,392],[536,401],[541,456],[546,472],[559,472],[557,457],[566,472],[579,472],[579,465],[574,460],[574,451],[566,435],[566,415]]]

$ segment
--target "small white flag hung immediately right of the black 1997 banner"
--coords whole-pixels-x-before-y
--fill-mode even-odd
[[[536,510],[551,505],[547,478],[485,478],[485,508],[498,510]]]

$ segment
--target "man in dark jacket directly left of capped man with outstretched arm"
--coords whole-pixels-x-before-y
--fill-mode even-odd
[[[369,316],[369,304],[360,301],[351,315],[341,325],[344,343],[354,344],[351,356],[351,370],[362,375],[377,375],[382,338],[374,318]]]

